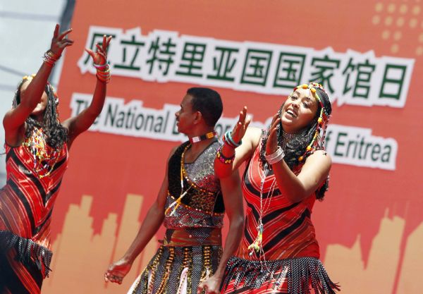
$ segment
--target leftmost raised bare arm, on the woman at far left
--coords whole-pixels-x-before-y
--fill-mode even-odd
[[[71,39],[66,39],[66,35],[68,35],[72,29],[66,30],[66,32],[60,35],[59,29],[59,25],[56,25],[49,50],[57,58],[61,56],[63,49],[73,44]],[[25,121],[40,102],[52,67],[53,66],[47,62],[42,63],[35,77],[32,78],[32,80],[24,82],[20,87],[20,104],[18,104],[16,108],[8,111],[4,116],[3,125],[5,137],[9,145],[18,145],[20,140],[23,139],[22,135],[25,133]]]

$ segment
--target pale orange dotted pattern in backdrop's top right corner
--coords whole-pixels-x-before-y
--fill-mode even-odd
[[[398,54],[410,44],[403,42],[405,32],[415,32],[417,56],[423,56],[423,9],[422,0],[379,1],[374,5],[373,25],[381,28],[381,39],[388,43],[391,54]],[[414,35],[414,33],[413,33]]]

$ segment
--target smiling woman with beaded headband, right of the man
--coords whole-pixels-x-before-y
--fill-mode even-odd
[[[226,265],[221,293],[314,293],[339,290],[319,260],[311,221],[328,188],[331,158],[324,150],[331,102],[317,83],[295,87],[267,131],[247,128],[247,108],[215,159],[225,178],[243,162],[245,230]],[[242,140],[241,140],[242,139]]]

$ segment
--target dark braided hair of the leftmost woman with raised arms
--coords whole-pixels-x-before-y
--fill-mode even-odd
[[[13,98],[12,107],[16,108],[20,104],[20,87],[23,83],[29,80],[24,77],[18,85]],[[58,115],[59,98],[56,96],[54,88],[47,82],[44,89],[47,93],[47,106],[44,110],[44,118],[42,122],[37,121],[31,115],[26,119],[25,139],[32,135],[34,128],[42,128],[43,133],[46,135],[46,142],[54,149],[61,149],[63,144],[68,140],[68,130],[61,125]]]

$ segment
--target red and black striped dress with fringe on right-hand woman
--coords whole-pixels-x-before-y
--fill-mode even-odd
[[[281,195],[272,172],[262,186],[259,151],[257,147],[244,173],[245,231],[237,255],[226,266],[221,293],[303,294],[311,289],[314,293],[334,293],[338,286],[319,260],[319,244],[310,219],[314,193],[292,203]],[[248,247],[257,238],[260,211],[262,244],[256,252]]]

